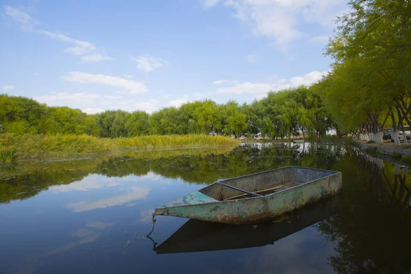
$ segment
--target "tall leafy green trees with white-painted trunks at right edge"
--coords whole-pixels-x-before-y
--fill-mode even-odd
[[[325,54],[331,72],[312,86],[345,132],[382,143],[384,127],[411,125],[411,2],[351,0]],[[406,138],[405,138],[406,139]],[[405,142],[407,144],[407,141]]]

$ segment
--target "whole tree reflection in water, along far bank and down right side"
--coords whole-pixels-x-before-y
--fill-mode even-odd
[[[95,160],[23,162],[0,166],[0,203],[27,199],[50,186],[84,177],[147,175],[210,184],[281,166],[343,173],[343,210],[316,224],[336,251],[338,273],[410,273],[411,225],[408,167],[363,155],[340,144],[260,143],[217,149],[145,151]]]

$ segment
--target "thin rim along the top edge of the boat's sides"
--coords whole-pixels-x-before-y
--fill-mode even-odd
[[[327,176],[324,176],[324,177],[319,177],[319,178],[317,178],[317,179],[308,181],[308,182],[306,182],[306,183],[299,184],[298,186],[291,186],[290,188],[286,188],[286,189],[283,189],[283,190],[279,190],[279,191],[273,192],[273,193],[271,193],[271,194],[269,194],[269,195],[264,195],[263,197],[247,197],[247,198],[243,198],[243,199],[233,199],[233,200],[225,200],[225,201],[211,201],[211,202],[207,202],[207,203],[197,203],[197,204],[195,204],[195,205],[167,206],[167,207],[164,207],[164,208],[182,208],[182,207],[184,207],[184,206],[199,206],[199,205],[202,206],[202,205],[208,205],[208,204],[212,204],[212,203],[233,203],[233,202],[234,202],[234,203],[237,203],[237,201],[245,201],[245,200],[247,200],[247,199],[264,199],[264,198],[266,198],[266,197],[271,197],[271,196],[277,195],[278,193],[281,193],[281,192],[283,192],[283,191],[290,190],[290,189],[292,189],[292,188],[299,188],[299,187],[305,186],[306,184],[310,184],[310,183],[312,183],[312,182],[316,182],[316,181],[318,181],[319,179],[324,179],[324,178],[327,178],[327,177],[331,177],[331,176],[337,175],[338,173],[341,174],[340,171],[329,171],[329,170],[327,170],[327,169],[314,169],[314,168],[305,167],[305,166],[283,166],[283,167],[280,167],[280,168],[278,168],[278,169],[286,169],[286,168],[311,169],[311,170],[316,170],[316,171],[327,171],[327,172],[332,172],[333,174],[327,175]],[[276,171],[276,170],[278,170],[278,169],[271,169],[271,170],[269,170],[269,171],[261,171],[261,172],[253,173],[253,174],[249,174],[249,175],[238,176],[238,177],[234,177],[234,178],[229,178],[229,179],[221,180],[221,181],[219,181],[219,182],[224,182],[224,181],[231,180],[231,179],[238,179],[238,178],[242,178],[242,177],[248,177],[248,176],[252,176],[252,175],[258,175],[258,174],[261,174],[261,173],[267,173],[267,172],[271,172],[271,171]],[[217,182],[214,182],[214,183],[212,183],[212,184],[209,184],[208,186],[212,186],[212,185],[214,185],[214,184],[218,184],[218,183],[217,183]],[[208,187],[208,186],[206,186],[206,187]],[[204,187],[204,188],[206,188],[206,187]],[[203,189],[203,188],[201,188],[201,189]],[[201,190],[201,189],[199,189],[199,190]],[[199,191],[199,190],[197,190],[197,191]],[[207,196],[207,195],[206,195],[206,196]],[[208,196],[208,197],[210,197],[210,196]],[[157,210],[157,209],[164,209],[164,208],[155,208],[155,210]]]

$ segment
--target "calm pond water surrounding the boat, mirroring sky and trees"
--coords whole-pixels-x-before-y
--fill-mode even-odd
[[[217,179],[288,165],[343,173],[343,195],[258,225],[151,214]],[[147,151],[0,168],[0,272],[411,273],[408,168],[345,145]],[[10,175],[12,174],[12,175]]]

